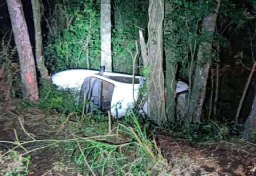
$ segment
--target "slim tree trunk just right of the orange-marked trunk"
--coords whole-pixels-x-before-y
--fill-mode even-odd
[[[48,79],[48,70],[44,65],[44,59],[42,55],[43,43],[42,43],[42,30],[41,30],[41,4],[39,0],[31,0],[33,9],[33,20],[35,28],[35,42],[36,42],[36,64],[41,74],[41,77]]]

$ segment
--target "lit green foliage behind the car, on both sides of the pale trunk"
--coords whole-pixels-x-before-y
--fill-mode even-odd
[[[53,71],[100,67],[100,1],[52,1],[45,57]],[[113,68],[132,73],[138,27],[147,25],[147,1],[115,1],[112,30]],[[138,61],[137,61],[138,62]]]

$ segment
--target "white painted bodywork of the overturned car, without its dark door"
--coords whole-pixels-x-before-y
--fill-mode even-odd
[[[58,89],[72,89],[80,91],[84,80],[88,77],[94,77],[99,80],[111,83],[114,85],[114,90],[111,99],[111,114],[115,117],[125,116],[127,108],[134,106],[134,101],[139,95],[139,88],[143,85],[145,78],[142,76],[133,76],[130,74],[103,72],[87,70],[87,69],[71,69],[61,71],[51,76],[51,81]],[[132,84],[132,81],[135,84]],[[182,81],[178,81],[176,93],[188,90],[188,85]],[[134,95],[133,95],[134,94]],[[133,98],[134,97],[134,98]],[[141,112],[147,113],[147,103]]]

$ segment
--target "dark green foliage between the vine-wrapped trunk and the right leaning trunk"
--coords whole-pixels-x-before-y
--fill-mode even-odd
[[[185,80],[193,75],[200,42],[206,39],[212,41],[207,31],[202,31],[202,18],[212,13],[214,5],[214,1],[172,2],[172,12],[168,16],[172,28],[169,35],[164,35],[164,44],[172,49],[167,61],[180,63],[180,77]]]

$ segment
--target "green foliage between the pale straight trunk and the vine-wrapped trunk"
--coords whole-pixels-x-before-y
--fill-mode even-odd
[[[132,73],[135,40],[139,40],[139,28],[145,29],[148,17],[148,1],[116,0],[114,7],[115,24],[112,38],[112,60],[114,71]],[[134,54],[133,54],[134,55]],[[142,67],[141,59],[136,65]],[[138,68],[136,68],[136,71]]]

